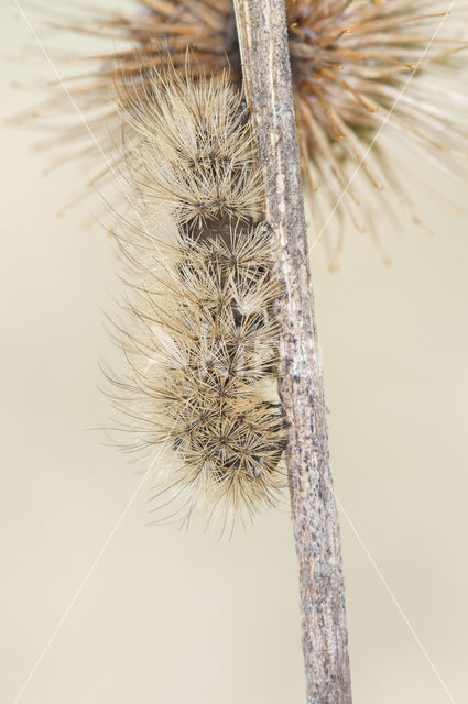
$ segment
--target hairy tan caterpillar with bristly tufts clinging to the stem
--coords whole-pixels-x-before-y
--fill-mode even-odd
[[[178,499],[182,522],[197,507],[253,515],[285,485],[285,421],[248,110],[226,77],[145,79],[120,108],[139,216],[117,234],[130,287],[117,404],[135,448],[167,450],[159,494]]]

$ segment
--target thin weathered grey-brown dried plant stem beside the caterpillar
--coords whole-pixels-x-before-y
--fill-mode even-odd
[[[264,174],[265,219],[283,363],[280,394],[290,421],[287,466],[300,561],[308,704],[349,704],[348,638],[339,529],[328,454],[322,362],[307,241],[284,0],[235,0],[243,80]]]

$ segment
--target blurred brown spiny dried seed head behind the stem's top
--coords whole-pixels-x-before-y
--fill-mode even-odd
[[[379,243],[369,191],[382,191],[376,208],[379,218],[387,210],[392,216],[405,212],[418,222],[406,195],[412,153],[435,158],[450,172],[459,165],[447,156],[468,154],[466,122],[456,114],[466,108],[466,97],[451,89],[457,53],[466,47],[459,36],[466,30],[467,6],[458,0],[447,19],[447,4],[442,0],[286,3],[304,184],[315,233],[324,240],[330,265],[338,262],[349,222]],[[96,13],[81,23],[79,15],[74,16],[73,29],[129,42],[116,54],[95,56],[96,73],[73,90],[107,153],[119,141],[109,101],[116,67],[124,78],[143,70],[143,86],[144,72],[165,62],[162,45],[181,73],[189,48],[195,80],[199,75],[219,76],[229,67],[231,81],[240,85],[232,0],[129,0],[128,12]],[[94,118],[100,108],[104,114]],[[395,145],[406,150],[404,163],[398,161]]]

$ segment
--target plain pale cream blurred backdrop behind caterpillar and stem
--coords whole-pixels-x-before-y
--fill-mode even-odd
[[[15,81],[54,76],[1,2],[7,118],[39,97]],[[109,422],[98,360],[117,355],[101,312],[119,292],[117,260],[99,224],[83,228],[91,201],[56,217],[85,175],[70,165],[45,178],[36,139],[1,128],[0,701],[301,704],[287,503],[219,543],[199,525],[149,527],[140,470],[87,431]],[[436,189],[446,180],[415,168]],[[320,246],[312,261],[353,696],[462,704],[468,219],[407,187],[435,237],[385,224],[388,268],[350,230],[338,274]]]

